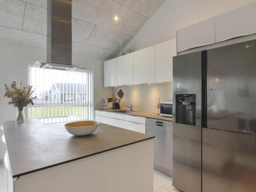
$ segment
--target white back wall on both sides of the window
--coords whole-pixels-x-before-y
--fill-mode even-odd
[[[46,61],[46,50],[0,42],[0,121],[13,120],[16,115],[16,109],[4,97],[4,83],[27,83],[27,61],[35,60]],[[94,69],[94,107],[102,107],[102,96],[112,96],[111,88],[103,88],[103,60],[73,55],[73,64]]]

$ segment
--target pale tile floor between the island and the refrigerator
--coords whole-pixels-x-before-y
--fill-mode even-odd
[[[154,170],[154,192],[179,192],[173,186],[173,179]]]

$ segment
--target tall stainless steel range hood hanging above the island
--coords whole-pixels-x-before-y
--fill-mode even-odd
[[[47,62],[35,66],[72,68],[72,0],[47,0]]]

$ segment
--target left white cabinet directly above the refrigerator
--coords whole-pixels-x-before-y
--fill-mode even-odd
[[[178,52],[215,43],[215,18],[177,31]]]

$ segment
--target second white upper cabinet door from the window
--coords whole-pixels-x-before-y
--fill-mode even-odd
[[[133,84],[133,53],[117,57],[117,85]]]

